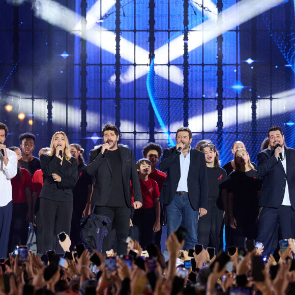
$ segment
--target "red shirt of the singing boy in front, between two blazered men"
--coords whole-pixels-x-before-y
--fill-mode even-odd
[[[147,181],[139,180],[141,195],[142,195],[142,209],[149,209],[154,207],[154,199],[160,196],[159,187],[156,181],[148,179]]]

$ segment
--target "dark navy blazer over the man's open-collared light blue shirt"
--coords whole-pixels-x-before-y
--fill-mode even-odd
[[[189,200],[194,210],[208,209],[208,179],[204,153],[191,147],[190,167],[188,173]],[[175,146],[165,149],[159,164],[161,171],[167,171],[159,202],[169,205],[176,193],[180,181],[180,153]]]

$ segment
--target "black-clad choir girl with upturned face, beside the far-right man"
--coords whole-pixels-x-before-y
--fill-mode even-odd
[[[233,245],[244,248],[245,238],[257,238],[258,200],[262,181],[245,149],[235,152],[234,165],[235,170],[229,174],[227,181],[228,221],[232,228]]]

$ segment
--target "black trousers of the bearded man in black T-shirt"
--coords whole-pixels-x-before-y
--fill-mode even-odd
[[[110,250],[109,238],[112,229],[112,221],[114,221],[116,238],[117,238],[117,249],[119,255],[127,254],[127,243],[125,242],[129,234],[129,221],[130,221],[130,208],[124,207],[107,207],[107,206],[95,206],[94,214],[108,217],[111,222],[107,227],[107,236],[103,239],[102,253]]]

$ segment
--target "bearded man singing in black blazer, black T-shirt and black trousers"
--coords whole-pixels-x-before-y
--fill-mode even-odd
[[[142,206],[135,159],[128,147],[118,145],[119,131],[113,125],[106,125],[102,130],[104,144],[90,151],[86,171],[95,175],[94,191],[91,204],[95,205],[94,214],[107,216],[114,220],[118,243],[118,254],[126,255],[125,240],[129,235],[131,208],[131,187],[134,194],[134,209]],[[103,240],[102,252],[109,250],[109,233]]]

